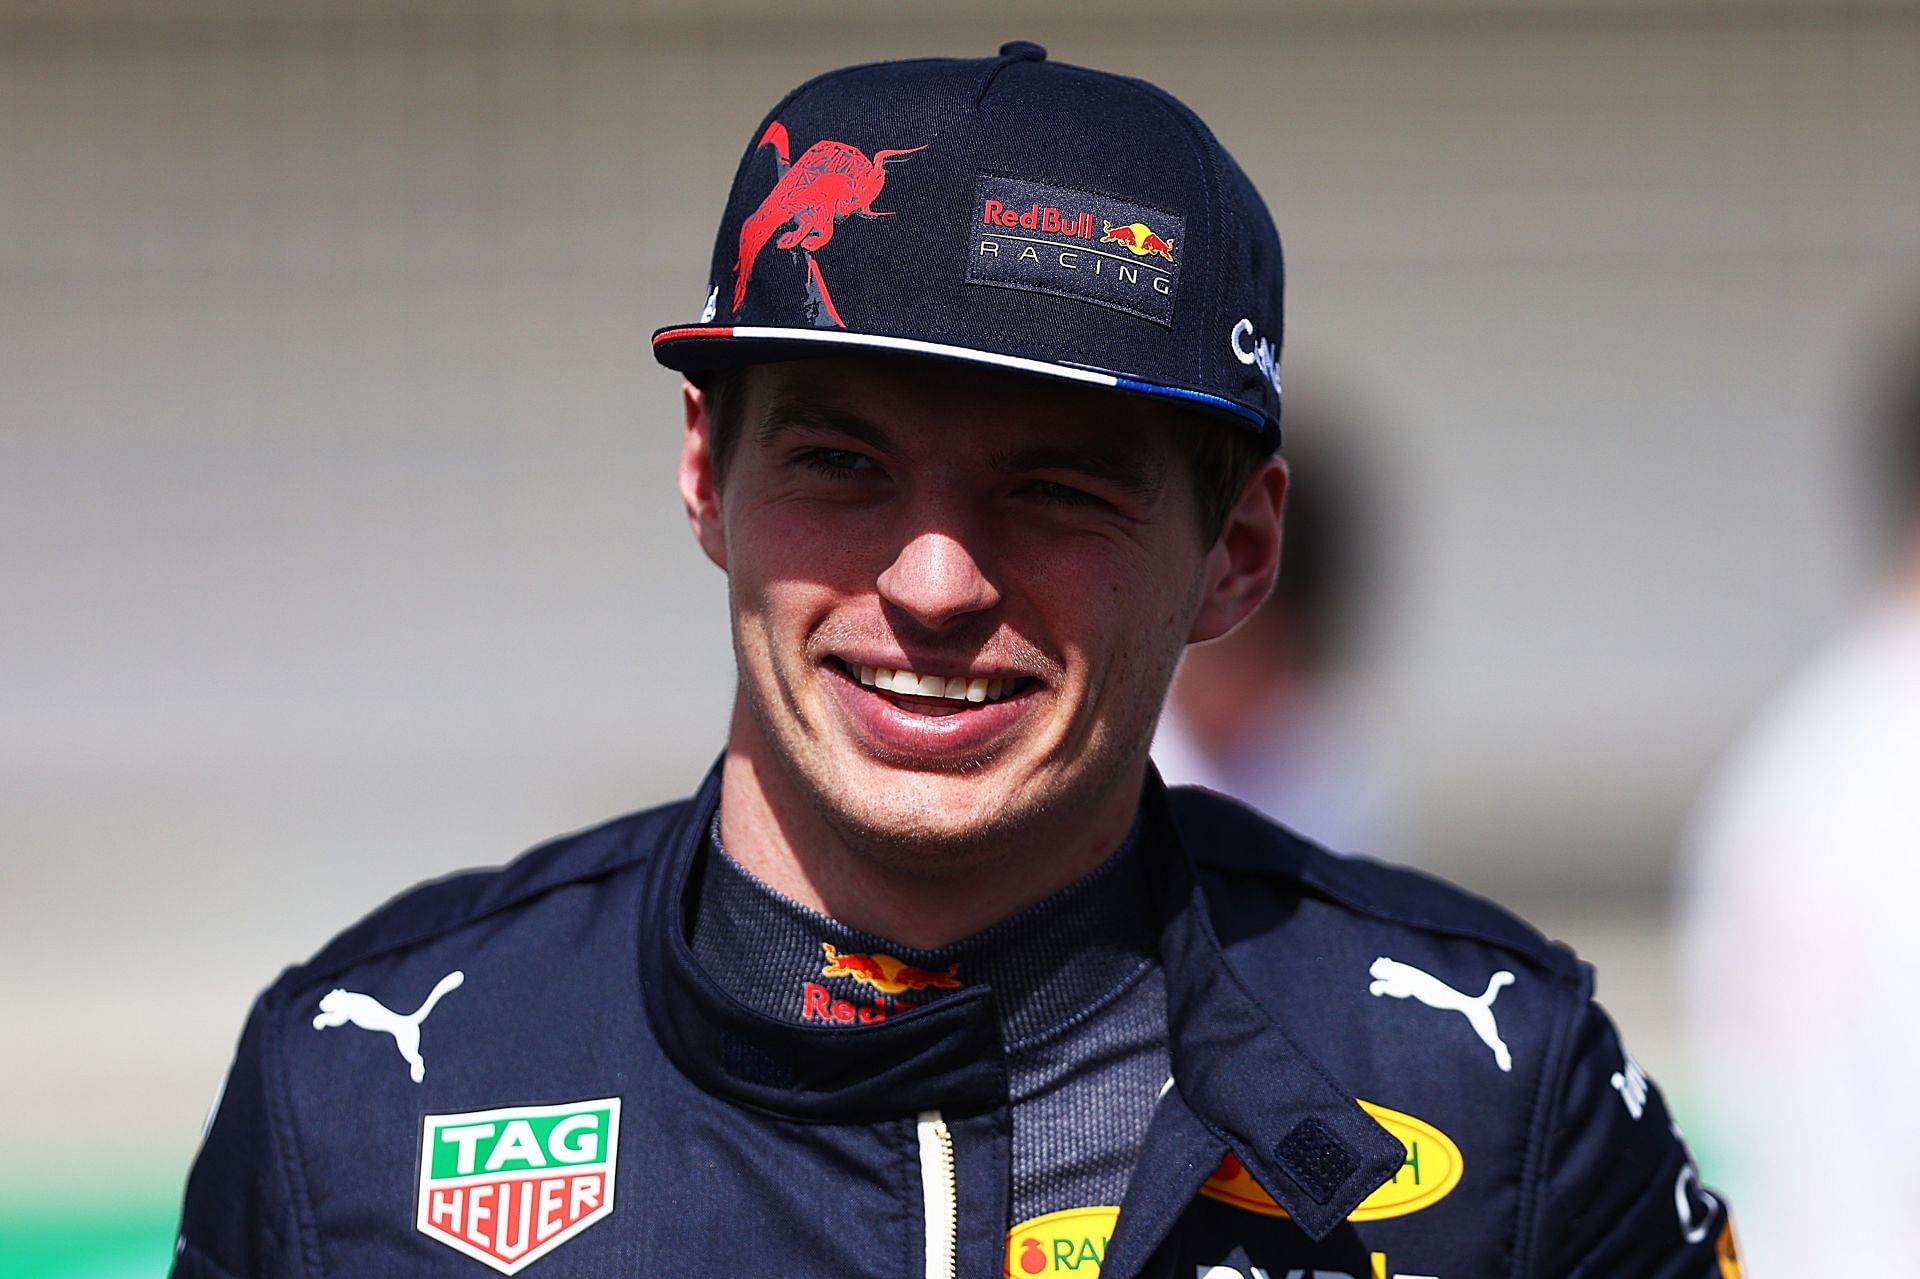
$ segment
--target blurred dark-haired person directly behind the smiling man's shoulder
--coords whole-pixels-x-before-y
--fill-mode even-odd
[[[1373,547],[1334,419],[1292,413],[1286,551],[1267,603],[1187,649],[1154,736],[1167,784],[1204,785],[1334,849],[1398,855],[1396,770],[1354,678]]]

